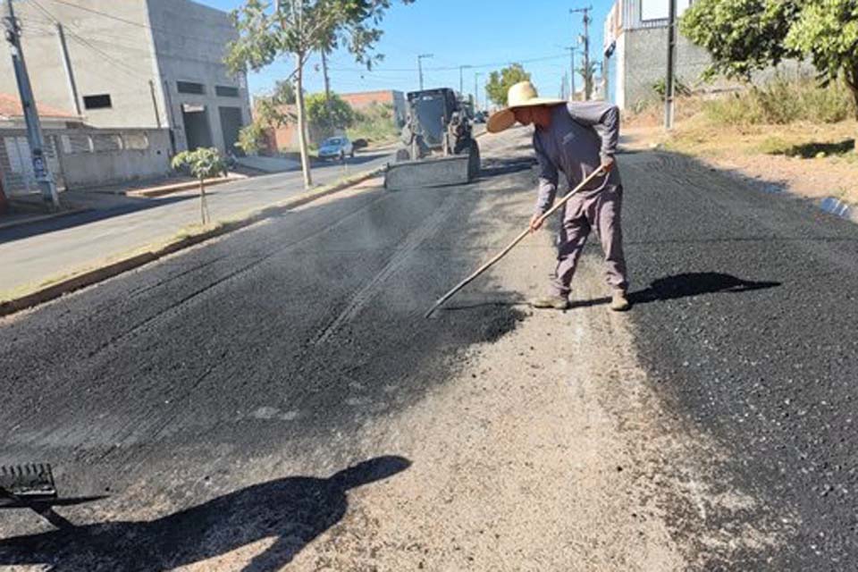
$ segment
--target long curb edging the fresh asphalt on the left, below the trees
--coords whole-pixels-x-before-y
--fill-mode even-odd
[[[195,234],[184,239],[176,240],[165,245],[164,247],[157,248],[154,251],[144,252],[142,254],[125,258],[109,265],[101,266],[100,268],[96,268],[94,270],[89,270],[87,272],[77,274],[61,282],[51,284],[50,286],[47,286],[46,288],[43,288],[41,290],[31,292],[26,296],[22,296],[21,298],[0,302],[0,317],[6,315],[13,315],[16,312],[26,310],[30,307],[36,307],[50,300],[60,298],[65,294],[70,294],[75,290],[80,290],[82,288],[92,286],[93,284],[97,284],[98,282],[104,282],[105,280],[113,278],[114,276],[118,276],[119,274],[126,273],[143,265],[147,265],[150,262],[155,262],[159,258],[166,257],[185,248],[189,248],[198,245],[202,242],[206,242],[206,240],[211,240],[223,236],[224,234],[229,234],[233,231],[239,231],[240,229],[246,228],[251,224],[258,223],[262,220],[265,220],[266,218],[272,217],[277,214],[282,214],[297,206],[306,205],[307,203],[313,202],[314,200],[317,200],[319,198],[327,197],[328,195],[332,195],[333,193],[341,191],[343,189],[349,189],[349,187],[353,187],[354,185],[357,185],[357,183],[367,181],[369,179],[372,179],[373,177],[378,176],[386,169],[387,166],[384,165],[382,167],[377,167],[372,171],[358,173],[351,177],[347,177],[342,181],[333,183],[329,187],[321,187],[319,189],[310,190],[308,192],[300,194],[297,197],[288,198],[286,200],[283,200],[282,202],[274,203],[270,206],[265,206],[257,211],[248,214],[247,216],[238,221],[223,223],[220,226],[215,227],[214,229],[211,229],[209,231],[203,231],[199,234]]]

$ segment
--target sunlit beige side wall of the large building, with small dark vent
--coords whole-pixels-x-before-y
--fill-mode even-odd
[[[155,56],[145,22],[145,0],[39,0],[16,2],[21,20],[21,44],[38,103],[76,111],[75,98],[63,65],[55,21],[63,22],[71,71],[78,87],[80,113],[99,127],[156,127],[148,81],[153,79]],[[88,12],[87,9],[98,13]],[[103,13],[103,14],[99,14]],[[0,46],[0,92],[17,94],[9,47]],[[109,94],[112,107],[85,109],[83,97]]]

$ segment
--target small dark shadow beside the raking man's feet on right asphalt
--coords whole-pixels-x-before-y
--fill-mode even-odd
[[[683,273],[652,281],[644,290],[629,292],[632,304],[665,301],[719,292],[746,292],[780,286],[780,282],[753,282],[717,272]],[[573,301],[571,307],[601,306],[610,303],[609,297]]]

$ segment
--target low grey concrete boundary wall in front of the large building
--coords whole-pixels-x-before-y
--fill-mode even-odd
[[[80,138],[81,135],[83,134],[77,137]],[[115,133],[88,131],[88,136],[121,141],[119,143],[121,148],[113,148],[113,145],[99,145],[95,140],[93,143],[96,150],[86,151],[74,145],[78,152],[73,152],[68,147],[69,143],[66,139],[61,143],[61,147],[63,145],[65,147],[61,149],[60,162],[67,189],[147,179],[170,172],[168,130],[124,130]],[[63,141],[63,136],[60,136],[60,140]],[[102,150],[97,150],[99,148]]]

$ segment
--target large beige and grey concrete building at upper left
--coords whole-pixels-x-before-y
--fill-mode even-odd
[[[190,0],[17,0],[38,104],[105,129],[168,129],[174,152],[236,151],[250,104],[223,64],[230,16]],[[0,92],[17,93],[0,46]]]

